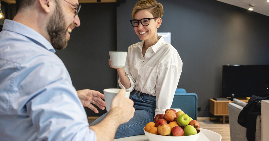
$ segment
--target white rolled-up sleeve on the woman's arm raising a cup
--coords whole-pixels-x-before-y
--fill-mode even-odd
[[[130,47],[129,47],[130,49]],[[119,86],[125,90],[130,90],[130,91],[133,91],[134,90],[134,87],[136,85],[136,82],[134,80],[134,77],[132,76],[131,72],[130,72],[130,65],[129,65],[129,53],[130,53],[130,50],[128,51],[127,53],[127,57],[126,57],[126,61],[125,61],[125,66],[124,66],[124,70],[125,70],[125,73],[127,74],[127,76],[129,77],[129,80],[130,80],[130,83],[131,83],[131,86],[130,88],[125,88],[122,84],[121,84],[121,80],[119,78],[118,82],[119,82]]]

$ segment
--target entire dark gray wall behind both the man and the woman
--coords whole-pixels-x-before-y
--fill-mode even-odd
[[[158,32],[171,32],[183,61],[178,88],[198,95],[198,117],[209,114],[209,98],[221,96],[223,64],[269,64],[269,17],[216,0],[158,0],[164,7]],[[117,87],[108,51],[127,51],[140,42],[130,24],[136,0],[82,4],[80,27],[56,54],[77,90]],[[12,15],[12,13],[10,14]],[[11,16],[12,17],[12,16]],[[88,116],[100,116],[85,108]]]

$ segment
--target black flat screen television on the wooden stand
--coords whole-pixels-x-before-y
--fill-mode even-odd
[[[269,96],[269,65],[223,65],[222,97]]]

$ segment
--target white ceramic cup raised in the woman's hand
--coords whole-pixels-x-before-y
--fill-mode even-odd
[[[125,51],[109,51],[109,57],[112,67],[122,68],[125,66],[127,52]]]

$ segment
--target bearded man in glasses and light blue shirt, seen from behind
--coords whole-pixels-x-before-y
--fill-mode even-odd
[[[104,95],[76,91],[54,54],[80,26],[78,0],[16,4],[14,20],[5,20],[0,33],[0,140],[113,140],[118,126],[134,115],[132,100],[121,90],[107,117],[89,127],[83,106],[104,109]]]

